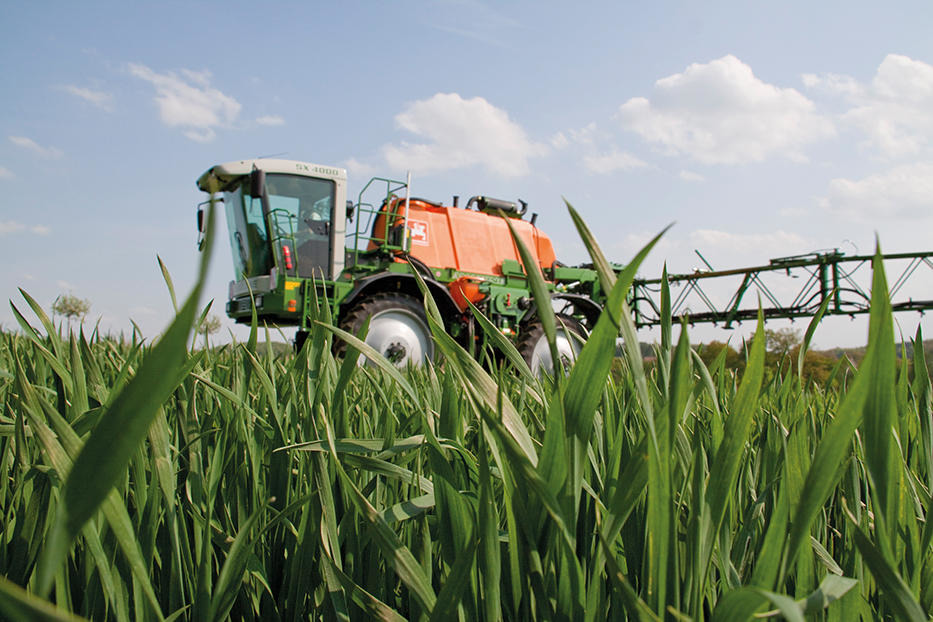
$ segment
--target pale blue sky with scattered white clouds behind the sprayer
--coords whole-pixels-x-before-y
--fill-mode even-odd
[[[346,167],[351,195],[411,170],[416,196],[521,197],[565,263],[585,253],[561,197],[618,261],[675,222],[644,276],[692,270],[694,249],[716,268],[868,253],[876,233],[933,250],[928,1],[569,7],[7,3],[0,293],[71,292],[106,330],[154,337],[156,255],[180,292],[198,261],[195,179],[272,154]],[[221,248],[218,310],[231,277]],[[816,337],[864,340],[848,319]]]

